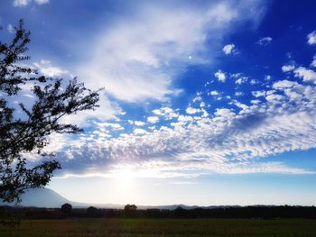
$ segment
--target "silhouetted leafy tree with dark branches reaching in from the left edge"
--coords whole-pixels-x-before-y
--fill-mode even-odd
[[[98,106],[98,91],[87,89],[76,78],[65,85],[61,78],[39,76],[25,66],[23,61],[30,59],[25,56],[29,42],[30,32],[25,31],[22,20],[15,27],[13,41],[0,41],[0,199],[5,202],[20,201],[28,188],[44,187],[52,172],[60,169],[60,163],[50,159],[52,153],[42,152],[48,136],[81,131],[76,125],[60,123],[60,119]],[[33,85],[33,105],[22,101],[14,105],[13,97],[16,99],[25,84]],[[31,152],[49,160],[32,167],[23,156]]]

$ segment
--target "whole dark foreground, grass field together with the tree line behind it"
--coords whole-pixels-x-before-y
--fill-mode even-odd
[[[0,207],[5,218],[20,224],[1,225],[2,236],[316,236],[314,206],[228,206],[174,210]]]

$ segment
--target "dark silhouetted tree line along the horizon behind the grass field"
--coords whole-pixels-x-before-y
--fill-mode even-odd
[[[72,208],[0,207],[1,214],[16,214],[23,219],[65,219],[65,218],[306,218],[316,219],[315,206],[228,206],[213,208],[184,209],[181,206],[170,209],[139,210],[136,205],[125,205],[124,209],[102,209],[94,206]]]

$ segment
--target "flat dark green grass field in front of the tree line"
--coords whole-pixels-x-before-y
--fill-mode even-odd
[[[0,236],[316,236],[316,220],[76,219],[23,221],[0,226]]]

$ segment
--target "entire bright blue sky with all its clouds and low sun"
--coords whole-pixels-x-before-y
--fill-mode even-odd
[[[3,0],[27,63],[104,87],[53,134],[72,201],[316,205],[315,1]],[[32,105],[30,85],[16,101]],[[39,158],[26,154],[29,162]]]

